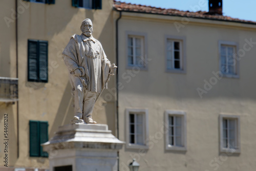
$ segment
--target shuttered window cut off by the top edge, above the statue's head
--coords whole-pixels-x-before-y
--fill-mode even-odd
[[[102,0],[72,0],[73,7],[102,9]]]

